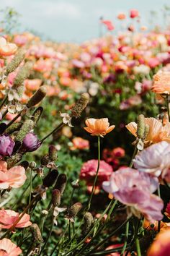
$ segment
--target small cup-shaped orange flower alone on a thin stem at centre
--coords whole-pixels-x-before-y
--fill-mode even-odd
[[[86,119],[85,124],[87,127],[84,127],[86,132],[91,133],[92,136],[101,136],[107,135],[115,128],[115,125],[109,127],[109,121],[107,118],[102,119]]]

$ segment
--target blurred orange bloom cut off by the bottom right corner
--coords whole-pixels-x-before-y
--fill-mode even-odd
[[[169,229],[158,233],[150,249],[148,249],[147,256],[168,256],[170,252],[169,238]]]

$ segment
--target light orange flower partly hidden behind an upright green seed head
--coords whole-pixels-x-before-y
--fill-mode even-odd
[[[149,132],[145,139],[145,145],[151,145],[153,143],[161,142],[163,140],[170,142],[170,123],[165,126],[162,125],[161,121],[153,117],[145,118],[145,124],[149,126]],[[137,132],[137,126],[134,121],[126,125],[126,128],[135,136]]]

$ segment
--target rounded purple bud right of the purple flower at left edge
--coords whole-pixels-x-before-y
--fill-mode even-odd
[[[23,140],[23,148],[24,150],[27,150],[27,152],[32,152],[37,150],[41,145],[40,140],[37,139],[37,135],[34,133],[30,132],[28,133]]]

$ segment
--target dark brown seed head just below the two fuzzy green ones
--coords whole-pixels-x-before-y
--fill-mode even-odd
[[[27,108],[32,108],[32,106],[37,105],[37,103],[40,103],[40,101],[42,101],[42,99],[45,97],[47,93],[47,89],[45,87],[45,85],[42,85],[36,92],[34,95],[32,95],[32,97],[30,98],[30,101],[27,102]]]

